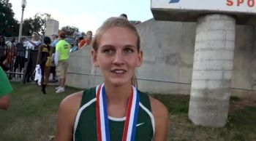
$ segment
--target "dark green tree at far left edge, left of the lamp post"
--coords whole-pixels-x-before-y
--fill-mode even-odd
[[[0,34],[18,36],[18,21],[14,19],[12,4],[9,0],[0,0]]]

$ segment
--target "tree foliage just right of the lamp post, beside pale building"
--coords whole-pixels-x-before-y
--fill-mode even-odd
[[[42,35],[45,34],[45,23],[52,19],[50,14],[37,13],[34,17],[30,17],[23,22],[23,35],[31,36],[31,33],[36,32]]]

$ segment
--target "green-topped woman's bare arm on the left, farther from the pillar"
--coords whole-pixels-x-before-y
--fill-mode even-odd
[[[83,92],[67,96],[59,106],[56,141],[72,141],[75,116],[80,107]]]

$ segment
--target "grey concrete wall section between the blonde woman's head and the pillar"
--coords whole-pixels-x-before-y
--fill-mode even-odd
[[[189,93],[195,28],[195,23],[154,20],[138,25],[144,52],[144,63],[138,70],[140,89],[154,93]]]

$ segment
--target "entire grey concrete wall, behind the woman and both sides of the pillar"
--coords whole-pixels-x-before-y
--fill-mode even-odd
[[[189,94],[195,49],[196,23],[148,20],[137,26],[144,52],[138,69],[139,89],[152,93]],[[256,29],[236,26],[236,49],[232,80],[233,94],[256,90]],[[91,47],[72,53],[67,85],[80,88],[103,81],[100,72],[91,75]]]

